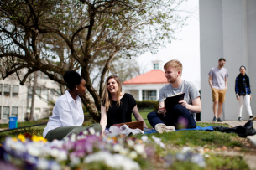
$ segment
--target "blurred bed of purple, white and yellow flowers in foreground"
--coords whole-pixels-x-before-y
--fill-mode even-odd
[[[93,129],[64,140],[47,142],[44,137],[7,137],[0,147],[3,169],[124,169],[137,170],[155,166],[171,167],[174,162],[192,162],[206,167],[204,156],[191,147],[160,156],[165,144],[158,137],[100,137]],[[152,161],[154,160],[154,161]],[[151,165],[151,164],[152,165]]]

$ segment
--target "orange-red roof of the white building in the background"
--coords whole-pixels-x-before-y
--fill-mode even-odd
[[[133,79],[123,82],[123,85],[138,85],[138,84],[163,84],[168,83],[165,77],[165,72],[162,70],[151,70],[142,75],[138,75]]]

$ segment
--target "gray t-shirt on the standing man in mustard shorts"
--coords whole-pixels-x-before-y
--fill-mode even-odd
[[[227,69],[223,68],[219,69],[218,67],[213,67],[209,75],[212,76],[212,87],[214,89],[225,89],[225,78],[228,77]]]

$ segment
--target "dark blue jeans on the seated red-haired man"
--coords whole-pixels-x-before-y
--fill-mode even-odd
[[[156,124],[164,123],[166,126],[175,126],[180,128],[196,128],[196,121],[185,106],[177,104],[174,108],[166,113],[164,117],[162,114],[152,111],[148,114],[148,121],[152,127]]]

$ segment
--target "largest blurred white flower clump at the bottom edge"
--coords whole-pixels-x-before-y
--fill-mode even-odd
[[[138,162],[134,162],[129,157],[120,154],[111,154],[109,152],[96,152],[88,155],[84,159],[85,163],[91,162],[105,162],[107,167],[120,168],[123,170],[139,170]]]

